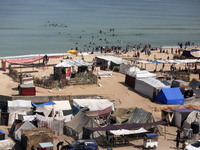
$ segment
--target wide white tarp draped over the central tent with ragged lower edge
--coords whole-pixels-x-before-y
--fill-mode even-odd
[[[103,110],[108,107],[114,111],[114,104],[108,99],[73,99],[73,106],[88,107],[90,111]]]

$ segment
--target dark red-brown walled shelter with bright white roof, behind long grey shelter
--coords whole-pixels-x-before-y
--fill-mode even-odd
[[[150,73],[148,71],[127,71],[125,83],[132,88],[135,88],[136,79],[145,79],[145,78],[156,78],[156,74]]]

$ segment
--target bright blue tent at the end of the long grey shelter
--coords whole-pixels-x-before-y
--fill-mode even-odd
[[[182,105],[184,97],[179,88],[165,88],[158,93],[156,101],[167,105]]]

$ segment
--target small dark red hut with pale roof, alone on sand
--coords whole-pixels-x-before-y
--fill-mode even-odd
[[[20,84],[19,95],[21,96],[35,96],[36,89],[34,84]]]

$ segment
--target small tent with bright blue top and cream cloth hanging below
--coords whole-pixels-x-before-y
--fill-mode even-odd
[[[34,107],[36,107],[35,111],[36,112],[43,112],[46,117],[48,117],[49,114],[51,113],[54,104],[55,103],[53,101],[49,101],[49,102],[39,104],[39,105],[36,105],[35,103],[32,102],[32,105]]]

